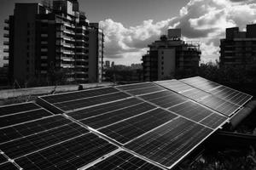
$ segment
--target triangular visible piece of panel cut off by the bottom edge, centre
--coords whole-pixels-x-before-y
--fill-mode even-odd
[[[87,170],[161,170],[147,161],[122,150],[107,159],[87,168]]]

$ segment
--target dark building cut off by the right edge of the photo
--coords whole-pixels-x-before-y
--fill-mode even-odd
[[[227,28],[226,38],[220,40],[220,66],[251,69],[256,66],[256,24],[247,25],[247,31]]]

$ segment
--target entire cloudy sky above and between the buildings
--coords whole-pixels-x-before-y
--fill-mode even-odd
[[[1,0],[0,56],[3,55],[3,20],[14,3],[39,0]],[[181,28],[184,40],[201,41],[201,60],[218,59],[219,39],[225,28],[256,22],[256,0],[79,0],[91,22],[100,22],[105,37],[105,58],[117,64],[140,63],[150,42]],[[0,63],[3,63],[0,60]]]

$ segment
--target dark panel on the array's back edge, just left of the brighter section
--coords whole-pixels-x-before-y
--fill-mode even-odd
[[[165,88],[157,86],[152,82],[123,85],[123,86],[117,86],[116,88],[119,88],[120,90],[124,90],[126,93],[129,93],[132,95],[149,94],[149,93],[165,90]]]

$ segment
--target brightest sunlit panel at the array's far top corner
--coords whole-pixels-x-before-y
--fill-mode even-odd
[[[190,77],[190,78],[181,79],[179,81],[185,82],[185,83],[189,84],[190,86],[199,88],[206,92],[210,92],[213,88],[218,88],[218,86],[220,86],[220,84],[218,84],[216,82],[211,82],[202,77]]]

